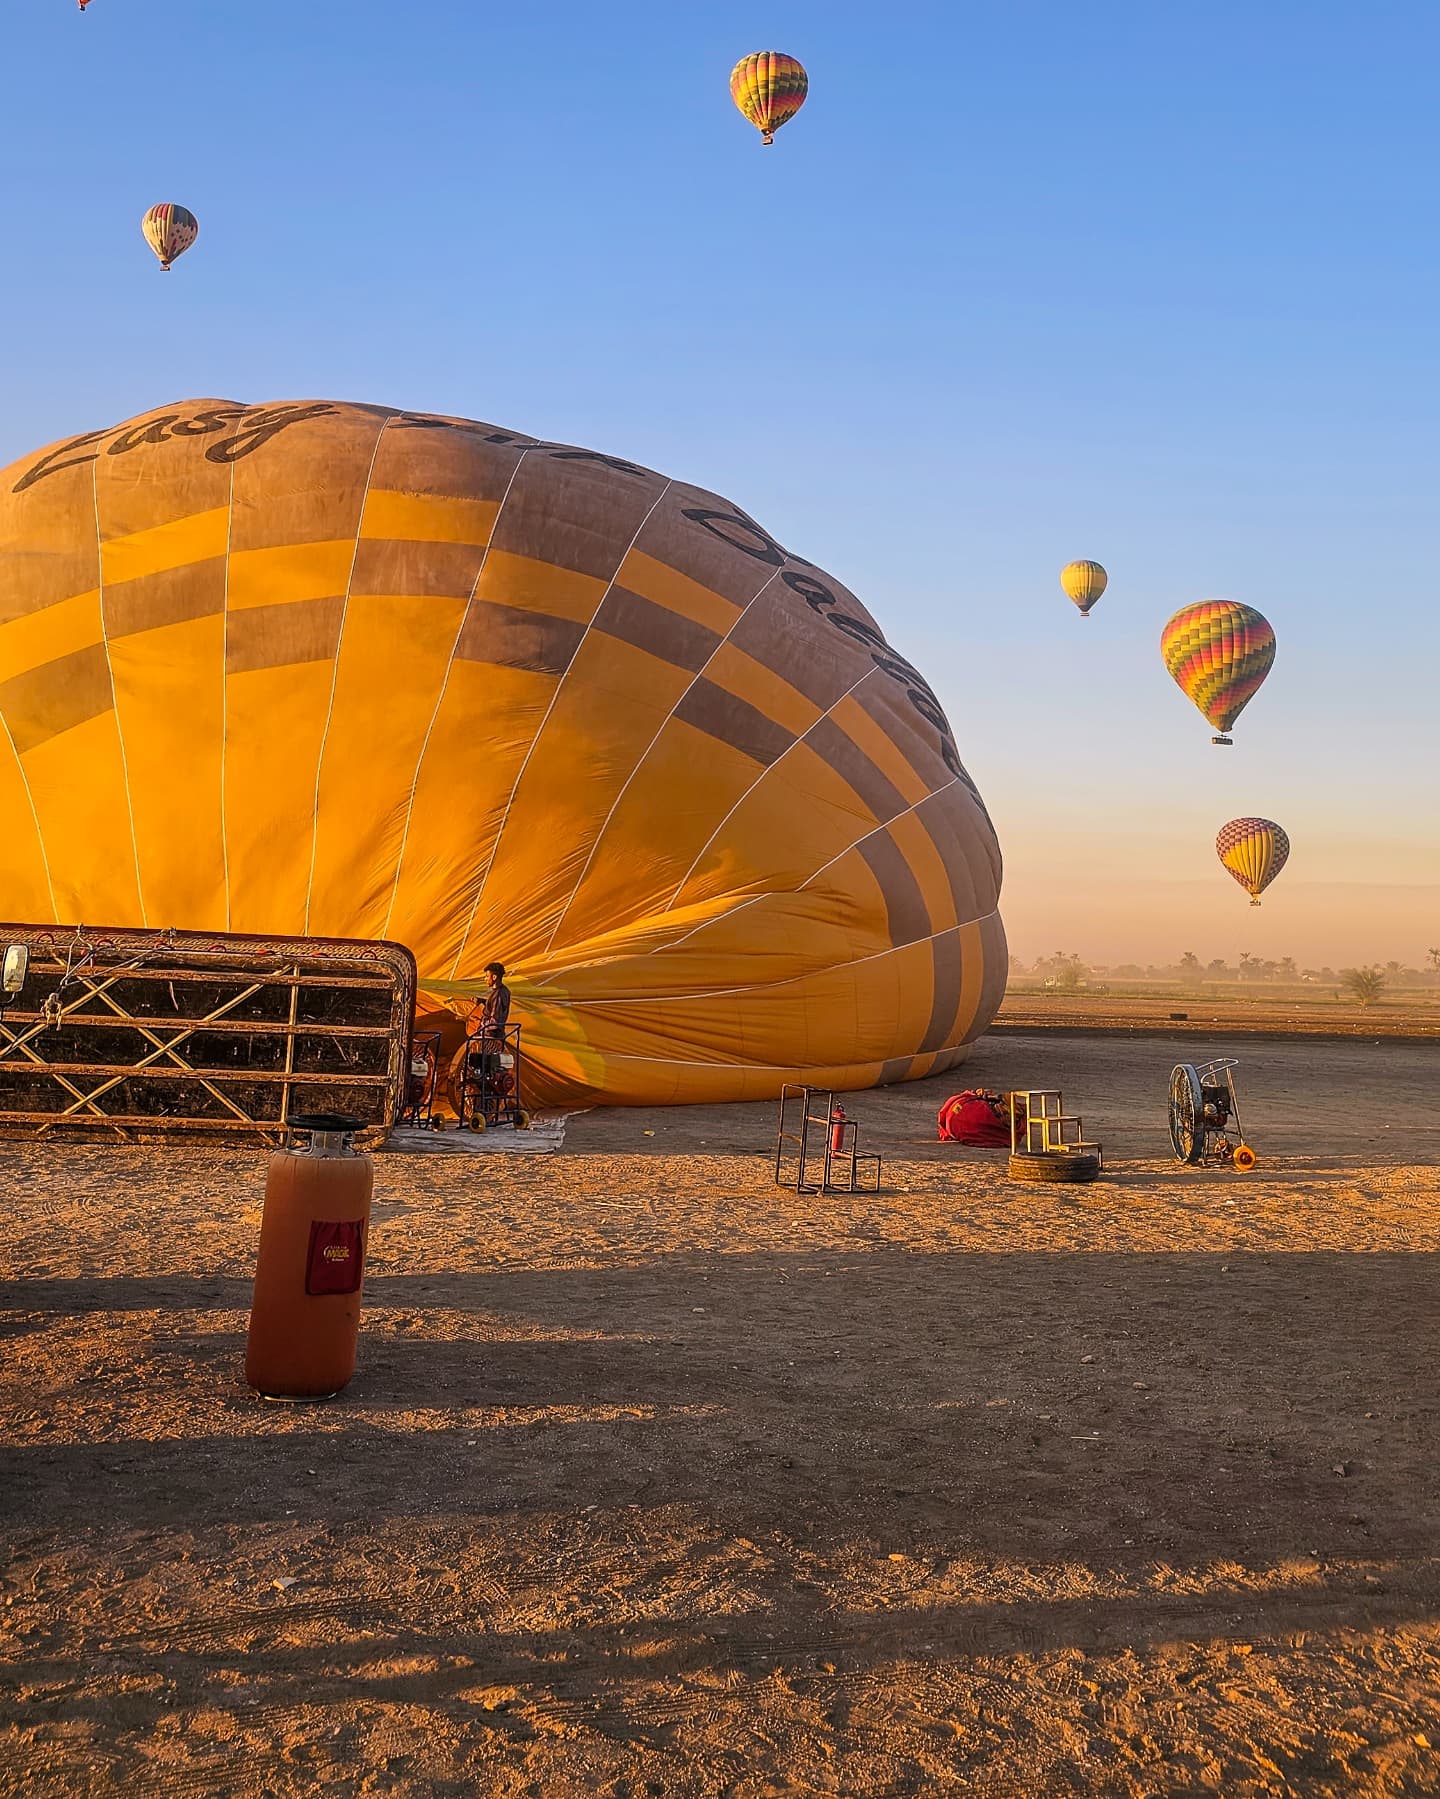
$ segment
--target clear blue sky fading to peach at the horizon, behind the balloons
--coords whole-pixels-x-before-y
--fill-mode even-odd
[[[211,394],[619,452],[929,673],[1022,957],[1440,943],[1433,0],[7,0],[0,67],[0,462]],[[1280,639],[1233,750],[1157,653],[1211,595]]]

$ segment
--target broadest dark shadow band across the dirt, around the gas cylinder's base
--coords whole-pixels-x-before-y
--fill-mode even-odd
[[[283,1416],[241,1385],[241,1293],[0,1288],[29,1319],[115,1320],[104,1380],[11,1439],[0,1518],[686,1506],[747,1536],[882,1517],[907,1553],[1121,1560],[1417,1556],[1440,1526],[1435,1256],[873,1245],[376,1275],[355,1383]],[[158,1335],[131,1322],[155,1310]]]

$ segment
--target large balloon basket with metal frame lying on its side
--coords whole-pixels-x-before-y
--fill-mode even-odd
[[[0,1018],[0,1133],[257,1135],[347,1112],[383,1142],[416,964],[398,943],[0,925],[31,950]]]

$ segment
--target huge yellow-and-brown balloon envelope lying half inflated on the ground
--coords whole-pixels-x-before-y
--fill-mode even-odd
[[[952,1067],[1006,975],[950,727],[837,581],[619,457],[173,405],[0,475],[4,916],[499,959],[531,1105]]]

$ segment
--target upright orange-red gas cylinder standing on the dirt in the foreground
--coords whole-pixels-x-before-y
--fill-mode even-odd
[[[265,1182],[245,1378],[275,1400],[324,1400],[355,1373],[374,1168],[351,1146],[358,1119],[313,1114]]]

